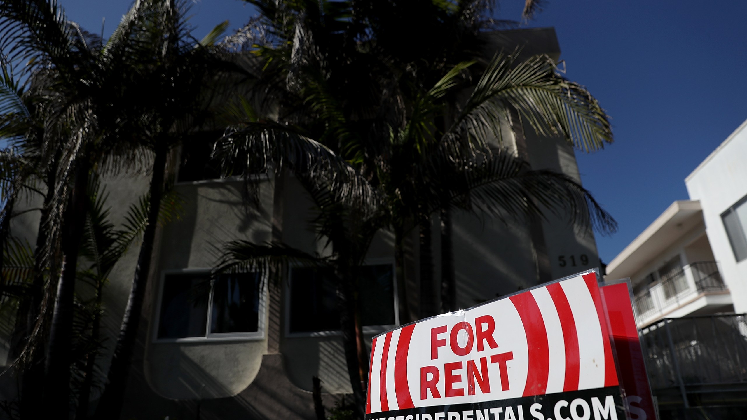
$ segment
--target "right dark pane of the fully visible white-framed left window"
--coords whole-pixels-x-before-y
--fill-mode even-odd
[[[258,331],[258,274],[223,274],[213,285],[211,333]]]

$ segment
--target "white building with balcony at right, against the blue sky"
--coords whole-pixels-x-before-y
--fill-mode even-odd
[[[630,277],[639,327],[747,312],[747,121],[685,179],[672,203],[607,266]]]

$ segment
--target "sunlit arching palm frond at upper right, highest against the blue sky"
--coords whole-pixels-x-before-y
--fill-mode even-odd
[[[447,143],[468,138],[470,144],[485,148],[487,139],[500,140],[500,124],[508,120],[509,108],[515,108],[539,135],[562,135],[586,152],[612,143],[609,118],[585,87],[558,75],[547,55],[520,63],[515,62],[517,56],[518,51],[493,58],[444,135]]]

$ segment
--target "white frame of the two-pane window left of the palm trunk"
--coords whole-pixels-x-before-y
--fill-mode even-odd
[[[213,316],[213,291],[214,288],[210,288],[210,294],[208,295],[208,308],[207,308],[207,320],[205,324],[205,336],[204,337],[181,337],[178,339],[170,338],[159,338],[158,329],[161,327],[161,305],[164,297],[164,281],[166,276],[169,274],[210,274],[211,268],[176,268],[172,270],[162,270],[161,276],[158,279],[158,300],[155,304],[155,322],[152,323],[152,342],[153,343],[196,343],[196,342],[237,342],[237,341],[258,341],[265,339],[265,331],[267,325],[267,282],[263,277],[264,287],[259,292],[259,308],[257,317],[257,330],[249,331],[247,333],[210,333],[211,321]]]

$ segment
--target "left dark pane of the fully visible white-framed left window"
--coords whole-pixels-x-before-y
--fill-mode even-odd
[[[210,283],[206,274],[167,274],[161,299],[159,339],[204,337]]]

